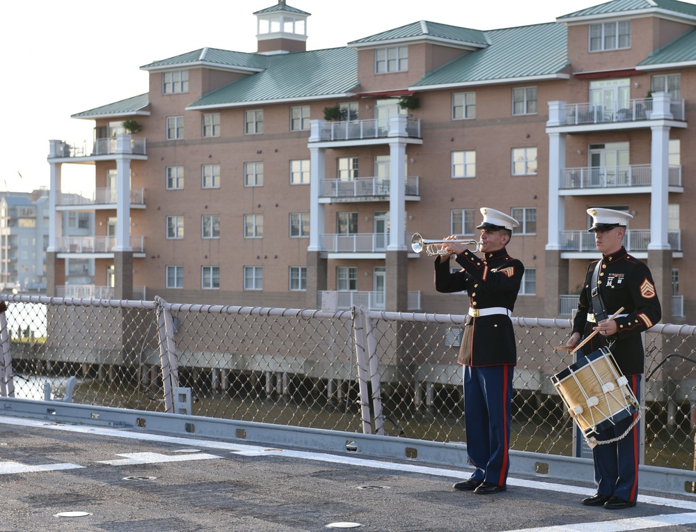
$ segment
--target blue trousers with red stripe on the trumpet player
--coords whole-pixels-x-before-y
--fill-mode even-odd
[[[476,482],[507,483],[513,373],[511,364],[464,366],[466,451]]]

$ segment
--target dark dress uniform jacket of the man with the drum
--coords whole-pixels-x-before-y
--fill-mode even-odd
[[[585,285],[580,292],[578,313],[573,322],[573,332],[587,338],[592,334],[594,322],[587,321],[587,314],[593,314],[592,276],[594,261],[587,267]],[[599,294],[606,312],[613,315],[624,307],[624,318],[616,318],[617,334],[605,338],[596,334],[592,340],[583,345],[583,354],[587,356],[600,347],[609,345],[619,369],[624,375],[638,375],[644,371],[644,351],[640,333],[646,331],[662,318],[662,307],[655,290],[655,283],[647,265],[626,253],[622,247],[617,253],[603,257],[599,277]]]

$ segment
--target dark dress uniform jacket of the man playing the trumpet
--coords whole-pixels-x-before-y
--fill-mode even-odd
[[[438,292],[466,290],[471,308],[503,307],[514,309],[524,274],[520,260],[505,248],[487,253],[484,258],[470,251],[457,256],[462,269],[450,273],[450,261],[435,259],[435,289]],[[512,320],[505,314],[480,318],[467,317],[457,361],[466,366],[516,364],[517,350]]]

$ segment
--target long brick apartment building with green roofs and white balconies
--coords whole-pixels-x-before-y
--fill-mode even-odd
[[[322,50],[306,49],[309,13],[255,15],[258,52],[144,65],[147,93],[74,115],[95,121],[93,146],[50,141],[49,295],[63,260],[88,257],[122,299],[317,308],[331,290],[344,308],[464,313],[411,235],[477,239],[488,206],[521,221],[515,314],[567,316],[597,256],[586,209],[602,206],[633,214],[626,248],[663,321],[693,317],[695,5],[613,0],[491,31],[416,21]],[[93,164],[93,203],[63,200],[63,164]],[[95,212],[95,235],[63,236],[62,210]]]

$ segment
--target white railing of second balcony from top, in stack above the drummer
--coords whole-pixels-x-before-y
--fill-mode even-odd
[[[681,187],[681,165],[670,166],[670,186]],[[649,164],[628,166],[587,166],[561,169],[561,189],[611,187],[649,187],[652,169]]]

